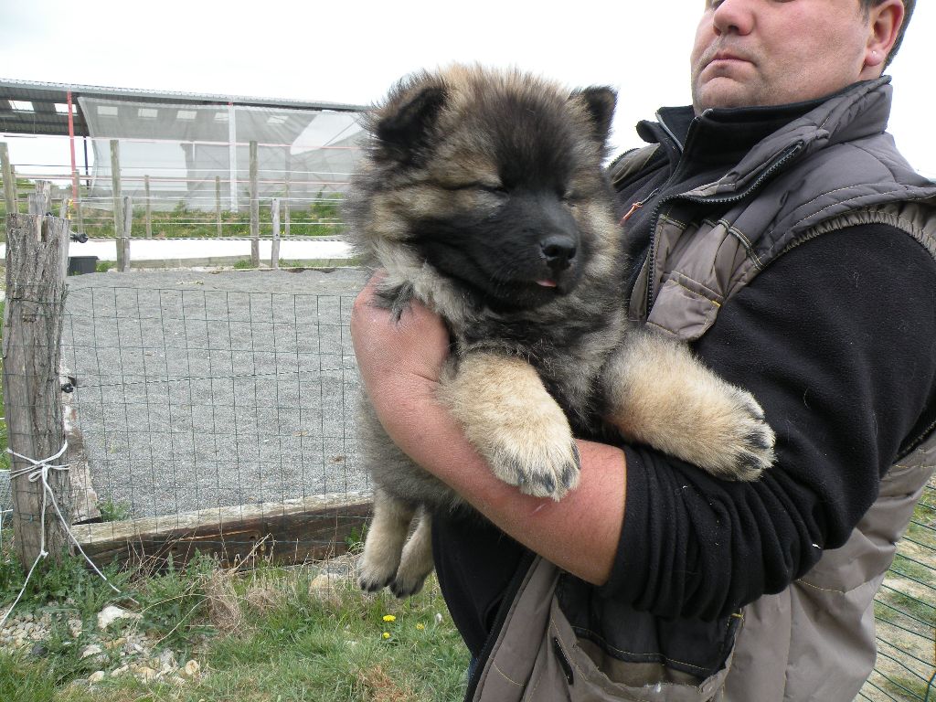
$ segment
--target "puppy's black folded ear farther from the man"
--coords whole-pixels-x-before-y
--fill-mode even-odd
[[[374,136],[387,155],[404,163],[414,162],[430,142],[433,124],[446,103],[446,88],[430,84],[388,105],[374,127]]]

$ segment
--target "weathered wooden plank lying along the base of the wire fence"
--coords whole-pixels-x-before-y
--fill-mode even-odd
[[[257,555],[275,563],[303,563],[344,553],[345,538],[360,534],[370,518],[372,499],[370,492],[333,493],[283,503],[79,524],[72,533],[98,565],[145,558],[158,566],[170,556],[178,564],[197,551],[235,563],[261,542]]]

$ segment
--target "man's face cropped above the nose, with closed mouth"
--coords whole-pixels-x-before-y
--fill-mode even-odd
[[[871,35],[858,0],[706,0],[692,53],[695,112],[801,102],[874,77]]]

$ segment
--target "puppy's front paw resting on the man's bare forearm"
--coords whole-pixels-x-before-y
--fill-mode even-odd
[[[491,470],[520,492],[561,500],[578,486],[578,446],[568,427],[553,434],[514,435],[493,443],[496,446],[488,457]]]

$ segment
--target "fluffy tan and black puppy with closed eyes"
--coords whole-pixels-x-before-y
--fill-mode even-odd
[[[574,436],[645,443],[731,479],[773,461],[749,393],[626,322],[602,169],[615,99],[477,66],[402,80],[371,114],[345,211],[387,271],[381,303],[402,314],[416,298],[445,319],[439,399],[468,440],[494,475],[555,500],[578,482]],[[431,572],[431,512],[464,503],[362,404],[375,493],[359,582],[405,596]]]

